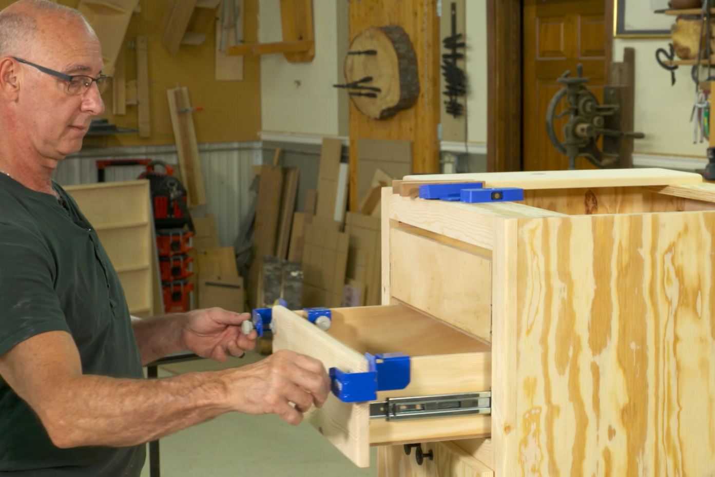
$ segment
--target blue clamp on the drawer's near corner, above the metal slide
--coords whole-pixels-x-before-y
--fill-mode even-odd
[[[370,355],[367,373],[344,373],[330,368],[330,388],[343,403],[361,403],[378,398],[378,391],[405,389],[410,384],[410,357],[405,353]]]

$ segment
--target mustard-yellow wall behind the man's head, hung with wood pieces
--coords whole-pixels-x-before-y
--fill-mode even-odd
[[[14,1],[0,0],[0,8]],[[79,0],[60,0],[59,3],[77,6]],[[217,82],[214,79],[215,35],[211,33],[199,46],[182,45],[172,56],[162,44],[162,36],[169,11],[170,0],[142,0],[142,11],[129,22],[124,45],[127,58],[127,80],[136,79],[137,60],[134,49],[126,48],[136,36],[149,37],[149,97],[151,100],[152,136],[146,139],[137,134],[116,134],[105,137],[108,146],[135,146],[149,144],[174,144],[167,89],[177,84],[188,87],[192,106],[203,107],[194,112],[194,126],[198,142],[233,142],[257,139],[260,129],[260,60],[246,56],[244,79],[240,82]],[[276,2],[277,3],[277,2]],[[245,0],[245,39],[257,38],[258,0]],[[104,93],[106,111],[102,117],[119,127],[137,128],[137,107],[127,106],[127,114],[112,115],[112,92]],[[92,144],[97,140],[88,139]]]

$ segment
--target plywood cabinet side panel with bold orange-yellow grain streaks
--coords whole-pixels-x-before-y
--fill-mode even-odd
[[[519,220],[498,475],[712,472],[714,235],[715,212]]]

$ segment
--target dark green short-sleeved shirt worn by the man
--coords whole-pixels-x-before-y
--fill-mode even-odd
[[[77,204],[56,189],[63,202],[0,173],[0,355],[62,330],[84,374],[143,378],[117,272]],[[55,447],[0,377],[0,476],[139,476],[144,458],[145,446]]]

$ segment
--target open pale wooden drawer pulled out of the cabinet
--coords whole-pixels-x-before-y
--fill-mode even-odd
[[[352,462],[368,467],[370,446],[490,435],[488,410],[449,417],[428,417],[425,412],[409,420],[388,420],[384,415],[370,418],[371,412],[384,414],[384,404],[391,398],[424,398],[430,402],[425,411],[435,406],[448,410],[455,405],[450,398],[460,394],[469,393],[462,405],[475,402],[468,399],[474,396],[471,393],[490,390],[489,345],[404,305],[335,308],[331,312],[330,330],[323,331],[298,314],[301,312],[274,307],[273,350],[309,355],[320,360],[326,370],[337,368],[345,373],[368,372],[365,353],[410,356],[406,388],[378,391],[372,406],[369,401],[345,403],[331,394],[322,409],[312,408],[306,413],[307,421]],[[418,409],[421,407],[418,405]]]

